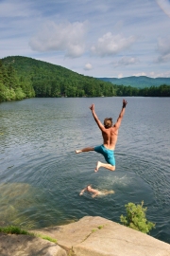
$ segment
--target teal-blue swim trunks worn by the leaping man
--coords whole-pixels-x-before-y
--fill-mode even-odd
[[[93,150],[97,153],[102,154],[105,157],[105,160],[112,166],[115,166],[115,158],[114,158],[114,151],[105,148],[104,145],[96,146]]]

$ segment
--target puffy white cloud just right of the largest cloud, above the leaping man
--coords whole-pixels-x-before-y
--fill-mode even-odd
[[[98,39],[97,44],[92,46],[91,50],[93,54],[101,57],[114,55],[131,46],[135,40],[134,36],[124,38],[119,34],[114,36],[108,32]]]

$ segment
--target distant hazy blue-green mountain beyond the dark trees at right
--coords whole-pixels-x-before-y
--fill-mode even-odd
[[[126,77],[126,78],[99,78],[101,81],[111,82],[116,85],[125,85],[131,86],[136,88],[144,88],[144,87],[151,87],[156,86],[159,87],[161,84],[170,85],[170,78],[148,78],[145,76],[141,77]]]

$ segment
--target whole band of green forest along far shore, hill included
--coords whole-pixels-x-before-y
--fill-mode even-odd
[[[136,87],[103,82],[27,57],[0,60],[0,102],[32,97],[170,97],[170,85]]]

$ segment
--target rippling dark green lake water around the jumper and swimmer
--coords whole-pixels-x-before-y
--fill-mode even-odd
[[[150,232],[170,243],[170,98],[127,98],[115,149],[116,171],[102,155],[75,149],[102,143],[99,119],[118,118],[123,98],[28,99],[0,104],[0,225],[38,229],[85,215],[120,223],[128,202],[147,207]],[[88,184],[114,194],[92,198]]]

